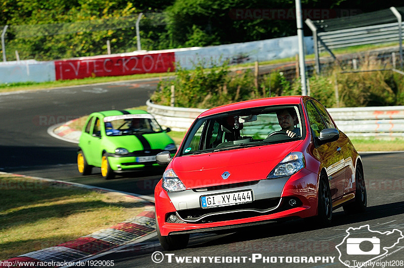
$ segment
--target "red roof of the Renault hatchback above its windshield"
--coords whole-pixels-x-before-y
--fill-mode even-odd
[[[299,104],[301,98],[302,96],[279,96],[279,97],[245,100],[212,108],[200,114],[199,118],[229,111],[254,108],[260,106]]]

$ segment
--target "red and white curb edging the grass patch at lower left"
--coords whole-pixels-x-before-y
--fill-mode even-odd
[[[8,174],[0,172],[0,174]],[[15,175],[25,177],[22,175]],[[29,177],[29,176],[26,176]],[[71,184],[79,187],[90,188],[94,190],[108,191],[108,189],[82,185],[78,183],[70,183],[64,181],[56,181],[51,179],[29,177],[38,180],[53,181],[62,184]],[[36,265],[28,265],[28,263],[40,262],[77,262],[82,259],[88,259],[91,256],[109,251],[111,249],[121,247],[128,243],[133,243],[136,240],[154,233],[156,231],[155,223],[155,205],[150,202],[153,201],[150,197],[144,200],[138,196],[121,192],[126,196],[137,199],[143,203],[143,211],[138,213],[135,217],[118,223],[108,229],[99,230],[92,234],[79,237],[75,240],[65,242],[53,247],[43,248],[37,251],[29,252],[19,255],[14,258],[2,261],[7,265],[0,265],[0,267],[39,267]],[[54,266],[58,267],[58,266]]]

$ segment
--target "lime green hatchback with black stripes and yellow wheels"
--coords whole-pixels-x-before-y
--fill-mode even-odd
[[[101,168],[105,179],[116,173],[159,166],[156,154],[177,151],[174,141],[156,119],[142,110],[112,110],[92,113],[84,127],[77,150],[77,168],[82,175]]]

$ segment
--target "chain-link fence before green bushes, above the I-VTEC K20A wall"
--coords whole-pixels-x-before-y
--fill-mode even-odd
[[[123,53],[137,50],[136,21],[138,14],[108,19],[94,19],[55,24],[0,26],[3,59],[7,61],[49,61]],[[164,13],[144,13],[139,22],[142,49],[159,46],[164,32]]]

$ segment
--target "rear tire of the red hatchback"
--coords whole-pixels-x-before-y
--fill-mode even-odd
[[[362,166],[358,164],[355,173],[355,201],[343,206],[346,214],[364,212],[368,205],[365,177]]]

